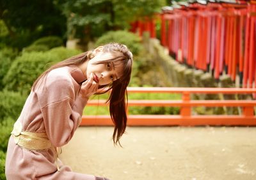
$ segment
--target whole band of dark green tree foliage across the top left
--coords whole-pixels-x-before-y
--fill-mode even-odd
[[[22,49],[52,35],[87,43],[106,31],[129,29],[131,22],[154,15],[165,4],[166,0],[0,0],[0,19],[8,29],[6,44]]]

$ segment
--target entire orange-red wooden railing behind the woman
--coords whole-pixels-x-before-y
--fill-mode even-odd
[[[129,93],[180,93],[182,100],[129,100],[131,106],[180,107],[179,115],[129,115],[128,126],[196,126],[241,125],[255,126],[256,100],[191,100],[191,94],[252,94],[252,88],[184,88],[184,87],[128,87]],[[87,106],[106,106],[105,100],[91,100]],[[192,107],[241,107],[240,115],[192,115]],[[109,116],[83,116],[81,126],[111,126]]]

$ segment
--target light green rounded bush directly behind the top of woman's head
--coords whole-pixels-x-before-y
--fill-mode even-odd
[[[95,43],[96,46],[116,42],[127,45],[134,56],[137,56],[142,49],[140,37],[128,31],[109,31],[101,36]]]

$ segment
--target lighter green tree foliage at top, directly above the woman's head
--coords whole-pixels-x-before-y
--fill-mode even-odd
[[[161,10],[166,2],[118,0],[59,1],[67,17],[68,38],[93,40],[109,30],[129,29],[129,24],[150,17]]]

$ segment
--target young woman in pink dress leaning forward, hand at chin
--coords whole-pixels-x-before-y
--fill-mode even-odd
[[[58,147],[73,137],[88,98],[110,89],[113,141],[119,143],[126,128],[125,95],[131,68],[129,49],[109,43],[42,73],[13,127],[6,155],[7,179],[106,179],[72,172],[58,160]]]

